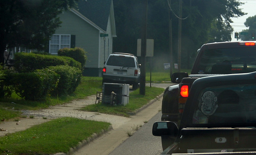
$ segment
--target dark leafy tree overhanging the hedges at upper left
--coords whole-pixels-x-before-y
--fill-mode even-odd
[[[58,14],[77,0],[0,0],[0,63],[11,47],[43,50],[60,26]]]

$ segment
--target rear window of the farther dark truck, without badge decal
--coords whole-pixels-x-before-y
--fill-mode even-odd
[[[256,71],[256,48],[205,50],[193,74],[233,74]]]

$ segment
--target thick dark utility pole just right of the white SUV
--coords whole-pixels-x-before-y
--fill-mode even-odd
[[[139,94],[145,95],[146,87],[146,50],[147,50],[147,0],[144,0],[144,18],[141,27],[141,79],[139,86]]]

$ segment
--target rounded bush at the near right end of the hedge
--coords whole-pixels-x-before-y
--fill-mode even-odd
[[[81,82],[82,71],[76,67],[58,65],[49,67],[60,75],[60,80],[56,89],[50,92],[53,96],[67,96],[75,92],[77,86]]]

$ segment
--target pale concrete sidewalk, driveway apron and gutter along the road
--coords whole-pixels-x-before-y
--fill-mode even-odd
[[[79,108],[83,108],[89,104],[95,104],[96,95],[89,96],[84,100],[74,100],[71,103],[52,106],[48,109],[35,111],[22,110],[23,114],[27,116],[27,118],[20,118],[18,122],[2,122],[0,124],[0,128],[6,131],[0,131],[0,136],[4,136],[8,133],[22,131],[30,128],[31,126],[60,117],[75,117],[87,120],[109,122],[112,125],[109,129],[111,131],[103,131],[100,138],[97,138],[99,135],[93,135],[93,138],[89,139],[89,141],[83,141],[79,147],[71,148],[69,151],[69,154],[75,155],[83,155],[84,153],[87,155],[107,155],[127,138],[126,132],[131,130],[132,125],[143,125],[143,122],[147,122],[150,120],[150,118],[157,114],[159,110],[161,110],[162,95],[163,94],[157,96],[157,98],[151,100],[147,105],[137,110],[137,112],[135,112],[135,114],[130,118],[79,110]],[[153,108],[150,108],[153,103]],[[29,118],[29,116],[34,116],[34,118]],[[89,143],[90,141],[93,141],[93,143]],[[97,141],[99,144],[96,144],[95,141]],[[105,148],[102,148],[103,145]],[[101,146],[101,148],[99,148],[99,146]],[[60,154],[65,155],[66,153],[58,153],[58,155]]]

